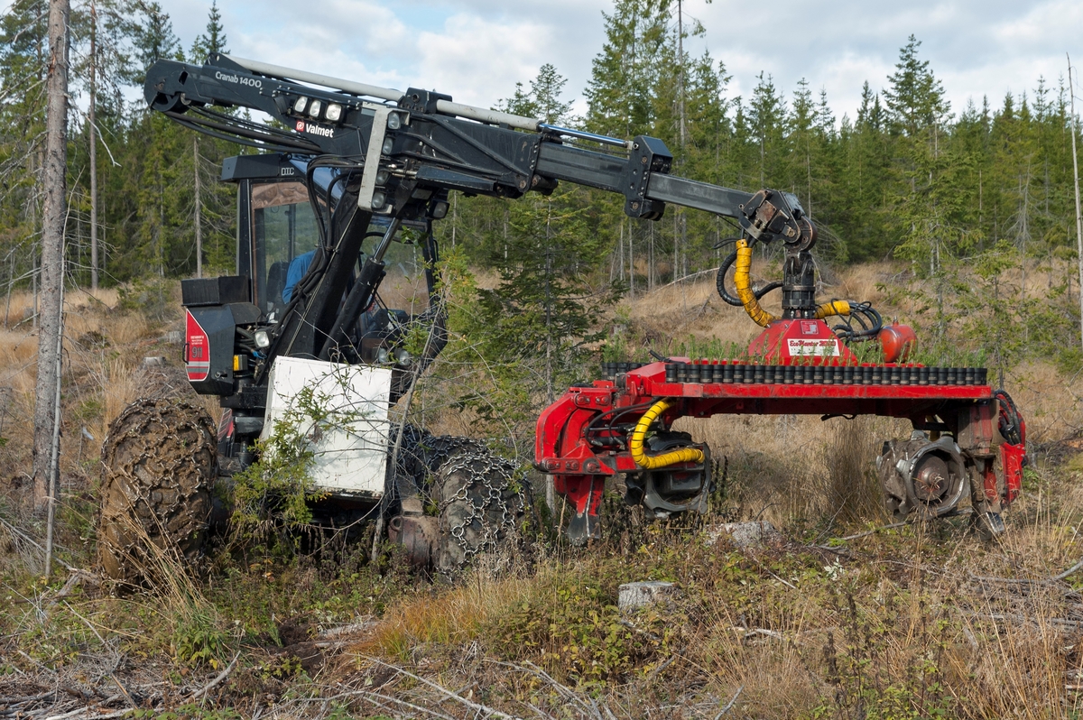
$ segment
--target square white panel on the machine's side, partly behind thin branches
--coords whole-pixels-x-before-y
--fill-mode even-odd
[[[347,497],[378,498],[383,494],[391,370],[277,357],[268,382],[261,438],[274,432],[275,421],[287,410],[297,409],[301,391],[312,388],[318,406],[330,414],[330,427],[315,432],[315,422],[305,417],[300,429],[315,455],[312,477],[316,487]]]

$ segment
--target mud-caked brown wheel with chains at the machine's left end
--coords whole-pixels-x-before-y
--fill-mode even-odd
[[[211,509],[217,444],[207,411],[175,398],[140,398],[109,426],[97,557],[109,577],[138,584],[159,565],[203,549]]]

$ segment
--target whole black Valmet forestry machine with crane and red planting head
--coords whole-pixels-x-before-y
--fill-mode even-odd
[[[572,387],[542,414],[535,467],[553,476],[574,508],[574,541],[597,536],[605,481],[619,474],[626,499],[654,516],[703,511],[709,448],[669,428],[680,417],[717,414],[909,418],[913,434],[885,443],[877,463],[889,510],[943,516],[969,488],[986,532],[1003,529],[1000,512],[1019,493],[1026,460],[1023,422],[1010,398],[989,385],[983,368],[906,363],[913,331],[885,326],[867,303],[818,302],[810,254],[817,233],[794,195],[671,175],[673,156],[654,138],[609,138],[429,90],[402,92],[225,54],[203,66],[156,62],[145,95],[185,127],[261,150],[229,158],[222,170],[238,188],[236,275],[182,283],[187,379],[197,393],[218,395],[223,408],[212,448],[219,473],[251,463],[255,442],[315,388],[323,406],[344,418],[337,431],[306,435],[314,480],[327,498],[317,516],[332,524],[350,522],[351,512],[389,518],[392,539],[419,563],[454,566],[494,547],[523,512],[510,466],[480,443],[392,423],[388,408],[445,343],[443,311],[430,301],[432,222],[447,214],[448,194],[514,199],[565,181],[623,195],[630,218],[658,220],[671,204],[735,221],[740,237],[719,270],[718,290],[765,328],[741,357],[604,364],[605,379]],[[756,244],[782,245],[781,283],[753,287]],[[759,305],[775,289],[781,317]],[[406,343],[415,317],[431,328],[419,356]],[[831,317],[836,325],[825,322]],[[859,362],[849,345],[861,341],[876,343],[882,362]],[[145,477],[154,473],[121,461],[160,453],[161,443],[131,430],[146,424],[144,415],[133,410],[134,419],[110,432],[105,463],[115,480],[107,486],[139,498],[129,499],[127,515],[169,527],[167,506],[206,493],[208,481],[200,475],[187,488],[147,492]],[[134,445],[126,449],[125,442]],[[422,511],[425,493],[439,500],[439,518]],[[184,527],[199,535],[197,525]],[[122,532],[103,529],[115,548],[132,547]]]

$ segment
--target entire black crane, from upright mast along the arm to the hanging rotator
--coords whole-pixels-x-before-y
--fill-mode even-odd
[[[818,315],[808,252],[815,231],[797,198],[670,175],[673,155],[655,138],[624,141],[454,103],[428,90],[401,92],[219,53],[203,66],[156,62],[144,92],[152,108],[181,125],[262,149],[315,156],[310,173],[319,167],[341,173],[349,201],[337,204],[322,252],[275,329],[268,359],[328,359],[344,341],[343,329],[369,305],[397,224],[444,217],[448,192],[518,198],[529,191],[549,193],[560,181],[622,194],[631,218],[657,220],[673,204],[734,218],[753,243],[781,238],[787,256],[783,316]],[[260,110],[277,125],[214,107]],[[389,221],[388,235],[366,259],[340,311],[338,300],[374,217]]]

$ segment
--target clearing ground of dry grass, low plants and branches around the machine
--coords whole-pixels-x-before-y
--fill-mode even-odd
[[[888,300],[889,265],[831,292]],[[1078,718],[1083,711],[1083,377],[1007,368],[1032,464],[1008,533],[965,515],[880,529],[872,461],[909,428],[880,419],[682,421],[723,458],[710,513],[647,524],[606,502],[606,539],[551,540],[456,582],[399,555],[236,544],[156,592],[94,572],[99,449],[179,364],[172,290],[70,292],[57,565],[42,577],[29,493],[37,338],[14,297],[0,331],[0,718]],[[889,307],[906,319],[906,306]],[[893,314],[893,312],[892,312]],[[17,318],[16,318],[17,315]],[[756,331],[713,277],[624,301],[615,322],[656,346]],[[1078,368],[1077,368],[1078,370]],[[159,377],[157,382],[161,382]],[[208,403],[208,410],[217,408]],[[769,520],[740,547],[712,528]],[[363,544],[364,546],[364,544]],[[675,586],[636,614],[617,587]]]

